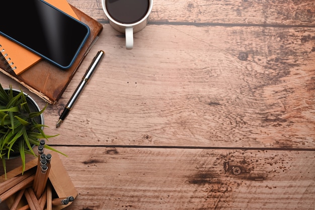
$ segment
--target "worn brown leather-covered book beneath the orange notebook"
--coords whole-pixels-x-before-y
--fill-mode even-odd
[[[16,80],[50,104],[55,104],[60,99],[77,68],[88,53],[89,47],[103,29],[102,24],[75,7],[71,7],[77,17],[90,27],[91,34],[70,68],[64,70],[42,59],[27,69],[27,71],[16,75],[14,72],[7,72],[5,63],[0,62],[0,72]]]

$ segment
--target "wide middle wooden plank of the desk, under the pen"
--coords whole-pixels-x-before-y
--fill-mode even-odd
[[[313,28],[144,30],[127,51],[104,26],[92,51],[104,61],[63,126],[72,92],[47,110],[47,130],[61,134],[51,144],[314,149]]]

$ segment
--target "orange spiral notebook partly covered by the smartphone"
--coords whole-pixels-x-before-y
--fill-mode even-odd
[[[46,0],[47,3],[76,18],[76,14],[66,0]],[[20,75],[42,58],[19,44],[0,35],[0,57],[6,63],[7,71]]]

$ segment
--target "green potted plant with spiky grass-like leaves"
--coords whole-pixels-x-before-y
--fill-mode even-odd
[[[39,139],[57,136],[46,135],[43,131],[47,127],[43,123],[43,112],[46,106],[40,110],[33,99],[23,93],[22,90],[4,89],[0,84],[0,158],[2,159],[5,174],[6,159],[12,156],[20,156],[22,161],[22,172],[25,170],[25,154],[35,153],[34,146],[39,145]],[[35,103],[35,107],[31,105]],[[45,148],[65,154],[45,145]]]

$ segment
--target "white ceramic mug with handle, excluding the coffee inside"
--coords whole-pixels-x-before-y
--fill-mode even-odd
[[[142,30],[148,23],[149,21],[149,15],[152,11],[152,6],[153,6],[153,0],[147,0],[149,5],[148,5],[148,10],[145,13],[144,17],[133,23],[122,23],[117,20],[115,20],[110,14],[109,11],[106,7],[106,1],[109,0],[102,0],[102,7],[105,12],[106,17],[109,19],[109,24],[117,31],[121,33],[125,33],[126,35],[126,49],[132,49],[133,48],[133,33],[136,33],[140,30]],[[119,0],[116,0],[119,1]],[[132,2],[132,0],[129,0]]]

